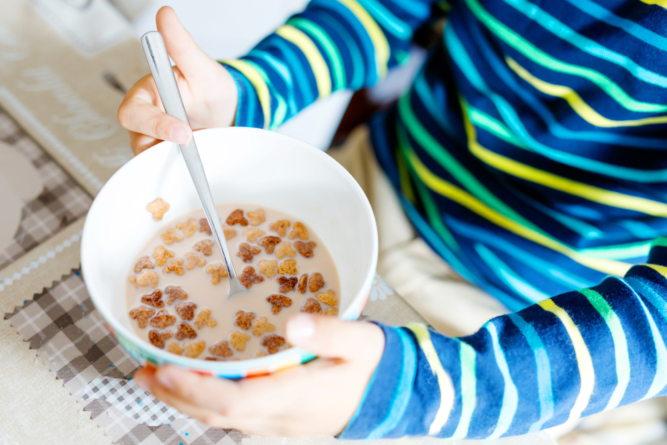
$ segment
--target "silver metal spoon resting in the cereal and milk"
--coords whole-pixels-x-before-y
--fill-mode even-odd
[[[165,110],[167,113],[178,117],[181,121],[187,122],[187,125],[190,125],[161,33],[157,31],[145,33],[141,36],[141,46],[143,46],[143,52],[151,68],[155,85],[157,85],[157,92],[162,99]],[[247,289],[239,282],[234,266],[231,264],[227,240],[225,240],[222,224],[215,209],[215,202],[213,202],[213,195],[211,195],[211,189],[206,180],[195,139],[193,137],[187,146],[180,144],[178,146],[181,147],[181,154],[183,155],[183,159],[185,159],[185,165],[187,165],[192,181],[195,183],[199,201],[201,201],[201,205],[204,208],[206,219],[208,219],[211,232],[213,232],[213,238],[215,238],[215,243],[222,254],[225,268],[227,268],[227,275],[229,275],[229,297],[241,294],[241,292],[247,292]]]

